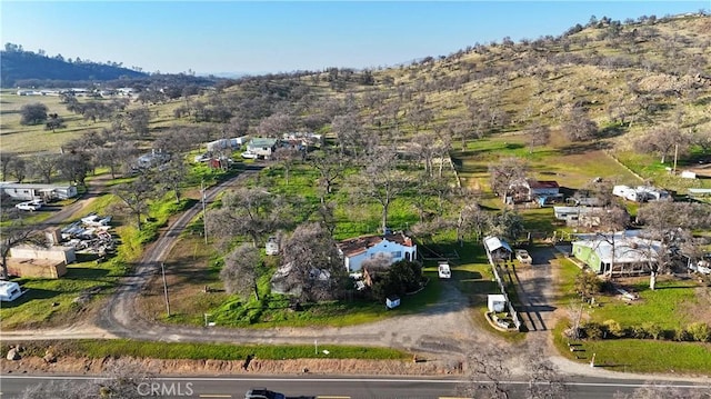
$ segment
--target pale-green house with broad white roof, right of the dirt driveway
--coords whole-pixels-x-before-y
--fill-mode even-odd
[[[572,255],[598,275],[639,275],[650,272],[661,242],[640,237],[639,231],[613,235],[579,235]]]

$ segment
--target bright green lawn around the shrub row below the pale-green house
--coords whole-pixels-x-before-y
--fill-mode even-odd
[[[568,259],[559,259],[559,307],[578,302],[573,292],[574,279],[581,270]],[[614,320],[622,327],[655,323],[664,330],[674,330],[695,321],[692,318],[700,306],[695,295],[698,282],[660,278],[657,290],[649,289],[649,277],[625,279],[625,288],[634,289],[640,299],[630,303],[614,295],[595,296],[599,306],[585,306],[583,319],[599,323]],[[695,310],[694,310],[695,309]],[[590,362],[595,353],[595,365],[615,371],[711,373],[711,343],[677,342],[649,339],[581,340],[571,352],[562,331],[570,321],[559,321],[553,340],[560,355],[581,362]]]

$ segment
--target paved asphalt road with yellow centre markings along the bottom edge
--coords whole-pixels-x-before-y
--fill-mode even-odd
[[[2,396],[16,397],[23,389],[37,383],[50,381],[70,381],[71,383],[96,380],[93,377],[76,376],[2,376]],[[254,377],[161,377],[146,383],[139,383],[139,393],[157,393],[160,398],[243,398],[244,392],[253,387],[267,387],[283,392],[288,397],[307,397],[321,399],[438,399],[457,396],[457,386],[467,382],[452,378],[398,378],[398,377],[337,377],[337,376],[254,376]],[[475,381],[480,382],[480,381]],[[694,383],[674,383],[657,381],[667,385],[670,397],[672,390],[687,390],[711,395],[711,386]],[[600,380],[581,378],[565,382],[570,398],[603,399],[612,398],[615,392],[630,393],[642,387],[641,380]],[[507,389],[511,398],[525,398],[528,382],[511,380]],[[148,396],[148,395],[146,395]],[[687,395],[688,396],[688,395]]]

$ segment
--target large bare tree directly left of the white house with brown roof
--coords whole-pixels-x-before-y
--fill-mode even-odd
[[[319,223],[304,223],[284,241],[283,265],[290,265],[287,286],[299,287],[301,299],[334,299],[348,279],[336,241]]]

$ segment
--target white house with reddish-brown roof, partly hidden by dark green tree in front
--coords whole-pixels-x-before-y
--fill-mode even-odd
[[[363,236],[351,238],[338,243],[339,253],[343,257],[343,265],[349,273],[359,272],[365,260],[375,257],[389,257],[390,265],[400,261],[413,261],[418,247],[410,237],[402,232],[384,236]]]

